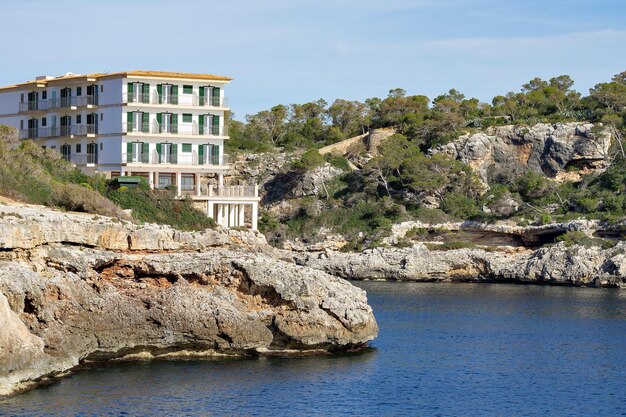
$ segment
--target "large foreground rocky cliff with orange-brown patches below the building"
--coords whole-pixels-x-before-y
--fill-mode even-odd
[[[90,361],[358,349],[365,292],[261,235],[0,206],[0,394]]]

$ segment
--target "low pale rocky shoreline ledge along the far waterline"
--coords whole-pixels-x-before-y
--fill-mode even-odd
[[[518,282],[626,288],[626,242],[611,249],[567,247],[536,251],[377,248],[361,253],[294,253],[293,262],[350,279]]]

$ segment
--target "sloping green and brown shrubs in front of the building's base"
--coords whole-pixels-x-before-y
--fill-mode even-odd
[[[147,183],[137,188],[114,187],[102,176],[88,176],[32,141],[17,143],[14,130],[0,126],[0,195],[31,204],[168,224],[182,230],[204,230],[214,223],[195,210],[191,201],[171,191],[153,192]]]

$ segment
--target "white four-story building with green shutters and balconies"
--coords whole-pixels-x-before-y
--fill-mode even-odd
[[[84,172],[175,186],[218,224],[256,229],[257,186],[224,185],[224,86],[231,80],[158,71],[41,76],[0,87],[0,124]]]

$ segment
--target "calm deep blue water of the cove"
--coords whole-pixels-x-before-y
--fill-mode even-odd
[[[626,291],[363,282],[354,355],[124,363],[0,400],[0,415],[626,416]]]

